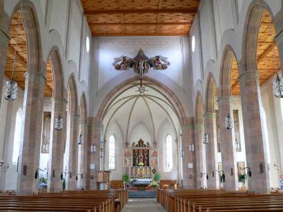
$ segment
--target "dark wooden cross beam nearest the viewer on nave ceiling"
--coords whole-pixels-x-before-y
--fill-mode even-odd
[[[85,10],[85,15],[99,15],[99,14],[132,14],[132,13],[197,13],[197,8],[189,9],[170,9],[170,10]]]

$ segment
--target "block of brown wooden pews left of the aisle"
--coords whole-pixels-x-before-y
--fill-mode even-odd
[[[0,194],[0,211],[119,212],[128,200],[122,189],[64,191],[37,195]]]

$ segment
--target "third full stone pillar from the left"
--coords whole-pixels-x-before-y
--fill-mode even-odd
[[[69,135],[69,161],[68,161],[68,172],[72,173],[68,175],[67,189],[68,190],[77,190],[77,162],[78,162],[78,137],[79,137],[79,115],[69,114],[70,116],[70,135]]]

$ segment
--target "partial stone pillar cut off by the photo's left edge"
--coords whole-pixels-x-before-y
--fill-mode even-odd
[[[5,67],[6,67],[6,55],[8,50],[8,45],[10,42],[10,37],[8,33],[0,28],[0,93],[2,94],[2,89],[5,84]],[[0,98],[0,105],[1,105]]]

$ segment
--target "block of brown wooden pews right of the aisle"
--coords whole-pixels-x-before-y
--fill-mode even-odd
[[[249,194],[208,189],[158,189],[157,201],[170,212],[283,211],[283,194]]]

